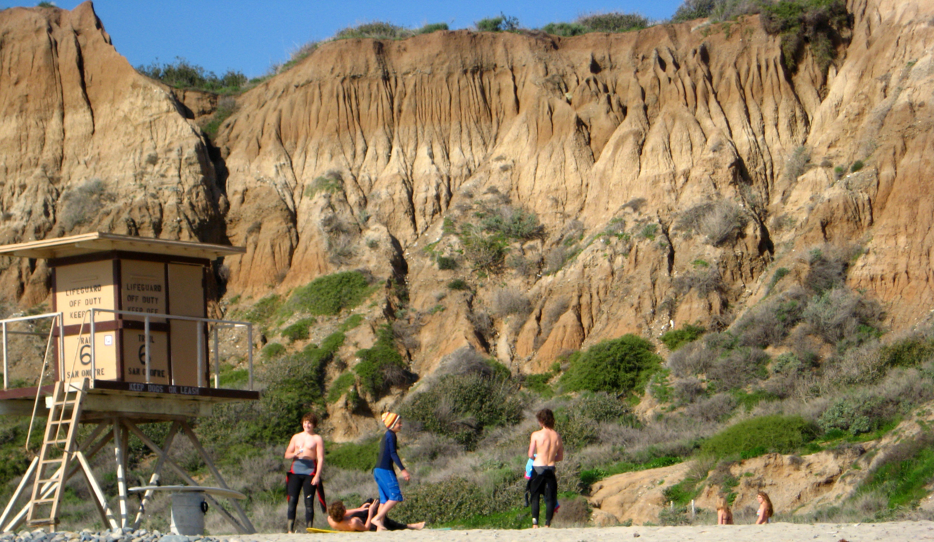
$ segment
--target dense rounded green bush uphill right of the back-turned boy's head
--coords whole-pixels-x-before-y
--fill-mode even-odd
[[[569,361],[561,375],[564,389],[625,394],[644,387],[661,359],[651,342],[630,334],[603,340],[586,352],[572,354]]]

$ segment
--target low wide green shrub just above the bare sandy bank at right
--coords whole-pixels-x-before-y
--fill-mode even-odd
[[[758,447],[766,452],[794,452],[817,435],[814,424],[800,416],[759,416],[730,425],[701,443],[701,452],[717,458],[739,455]]]

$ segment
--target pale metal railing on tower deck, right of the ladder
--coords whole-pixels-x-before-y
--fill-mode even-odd
[[[247,328],[247,365],[248,365],[248,387],[250,390],[253,389],[253,325],[249,322],[236,322],[233,320],[216,320],[214,318],[199,318],[197,316],[177,316],[173,314],[162,314],[162,313],[136,313],[134,311],[119,311],[116,309],[98,309],[91,308],[89,310],[91,313],[91,337],[94,337],[94,314],[95,313],[112,313],[112,314],[123,314],[127,316],[135,316],[143,318],[143,330],[145,334],[145,351],[144,356],[146,358],[146,383],[149,383],[152,378],[152,371],[150,370],[151,358],[149,356],[149,323],[152,318],[165,318],[166,320],[186,320],[190,322],[197,322],[197,348],[198,348],[198,387],[205,387],[205,324],[214,324],[214,387],[220,387],[220,349],[219,349],[219,340],[218,340],[218,329],[223,327],[246,327]],[[107,320],[110,322],[111,320]],[[124,320],[125,322],[126,320]],[[94,355],[94,343],[96,340],[91,340],[91,374],[97,374],[96,358]],[[210,380],[210,377],[208,377]],[[170,382],[175,384],[175,382]]]

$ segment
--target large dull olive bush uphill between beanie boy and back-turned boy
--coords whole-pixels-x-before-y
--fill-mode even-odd
[[[403,407],[404,418],[473,449],[487,427],[517,424],[523,401],[502,371],[447,375]]]

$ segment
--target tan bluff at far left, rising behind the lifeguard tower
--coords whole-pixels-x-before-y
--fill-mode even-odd
[[[223,239],[205,139],[110,43],[90,2],[0,11],[0,243],[95,229]],[[49,272],[0,258],[0,284],[43,301]]]

